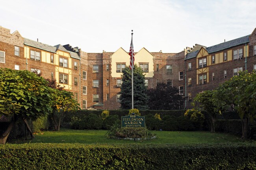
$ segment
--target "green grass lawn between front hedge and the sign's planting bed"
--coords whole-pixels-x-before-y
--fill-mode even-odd
[[[61,129],[59,132],[47,131],[35,134],[32,141],[22,143],[84,143],[84,144],[171,144],[171,143],[238,143],[239,136],[225,133],[210,132],[169,132],[154,131],[158,139],[147,141],[128,141],[108,139],[107,130],[70,130]]]

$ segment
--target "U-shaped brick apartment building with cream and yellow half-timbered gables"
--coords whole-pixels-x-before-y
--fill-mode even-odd
[[[211,47],[196,44],[180,53],[135,53],[135,64],[145,73],[145,86],[172,82],[185,96],[186,108],[193,97],[211,90],[236,75],[239,70],[256,69],[256,30],[251,35]],[[0,67],[39,71],[56,79],[74,93],[83,109],[119,109],[122,69],[130,64],[128,53],[86,53],[69,44],[50,46],[23,38],[18,31],[0,27]]]

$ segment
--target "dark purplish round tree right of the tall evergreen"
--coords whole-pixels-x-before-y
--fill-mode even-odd
[[[176,87],[170,82],[158,83],[156,88],[147,90],[148,106],[151,110],[180,110],[183,108],[183,99]]]

